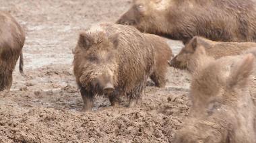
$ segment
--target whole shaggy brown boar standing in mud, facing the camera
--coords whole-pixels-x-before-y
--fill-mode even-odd
[[[84,111],[92,109],[96,94],[108,95],[112,105],[117,95],[127,95],[129,107],[134,107],[154,65],[153,46],[131,26],[102,24],[83,32],[75,47],[73,72]]]

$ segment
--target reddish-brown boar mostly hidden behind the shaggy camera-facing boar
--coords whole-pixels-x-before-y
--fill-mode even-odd
[[[153,35],[144,34],[154,47],[156,66],[154,72],[150,75],[150,79],[154,81],[156,87],[164,87],[166,84],[166,73],[168,68],[168,60],[173,57],[172,50],[163,38]]]

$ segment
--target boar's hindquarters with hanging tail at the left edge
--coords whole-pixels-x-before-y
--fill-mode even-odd
[[[9,91],[12,73],[20,56],[20,73],[23,75],[22,48],[25,34],[22,27],[9,13],[0,11],[0,91]]]

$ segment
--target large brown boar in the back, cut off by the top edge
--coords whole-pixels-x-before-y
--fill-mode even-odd
[[[118,20],[141,32],[189,42],[193,36],[214,41],[255,42],[256,1],[133,0]]]

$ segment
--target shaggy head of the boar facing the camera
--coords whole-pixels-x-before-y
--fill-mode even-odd
[[[98,94],[109,94],[117,85],[118,38],[106,36],[104,32],[82,33],[77,44],[79,69],[78,83]]]

